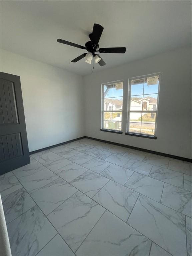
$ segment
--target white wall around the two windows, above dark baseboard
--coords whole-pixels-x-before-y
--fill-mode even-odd
[[[105,60],[105,54],[102,57]],[[128,78],[158,72],[161,72],[161,85],[157,140],[125,135]],[[124,80],[123,134],[101,132],[101,84],[121,79]],[[191,50],[189,48],[176,49],[84,76],[83,84],[86,136],[191,158]]]

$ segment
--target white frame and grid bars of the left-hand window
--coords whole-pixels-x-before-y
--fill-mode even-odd
[[[122,95],[122,110],[104,110],[104,86],[105,85],[110,85],[110,84],[117,84],[117,83],[123,83],[123,94],[124,94],[124,81],[123,80],[117,80],[117,81],[112,81],[112,82],[107,82],[107,83],[102,83],[101,84],[101,129],[100,131],[106,131],[106,132],[114,132],[114,133],[119,133],[122,134],[122,128],[123,128],[123,95]],[[111,98],[111,97],[110,97]],[[117,98],[117,97],[115,97]],[[106,98],[107,99],[107,98]],[[121,130],[115,130],[115,129],[106,129],[104,128],[104,112],[112,112],[112,113],[119,113],[121,112]],[[113,122],[113,119],[112,119]]]

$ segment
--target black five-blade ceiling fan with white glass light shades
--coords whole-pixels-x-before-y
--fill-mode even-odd
[[[89,34],[89,38],[91,41],[88,41],[85,43],[85,46],[81,46],[79,44],[74,44],[62,39],[57,39],[57,42],[62,44],[71,45],[83,50],[87,50],[88,53],[83,53],[71,62],[77,62],[84,57],[86,57],[86,62],[91,64],[92,59],[95,59],[95,63],[99,63],[100,66],[104,66],[106,63],[103,61],[103,59],[99,56],[99,54],[96,54],[96,52],[99,53],[125,53],[126,48],[125,47],[111,47],[111,48],[99,48],[99,39],[101,37],[101,34],[103,32],[103,27],[99,24],[93,25],[93,31],[91,34]]]

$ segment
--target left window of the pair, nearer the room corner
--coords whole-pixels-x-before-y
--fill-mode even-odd
[[[123,82],[102,84],[102,129],[121,131]]]

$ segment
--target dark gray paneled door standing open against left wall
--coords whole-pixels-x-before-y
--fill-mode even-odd
[[[29,163],[20,77],[0,72],[0,175]]]

